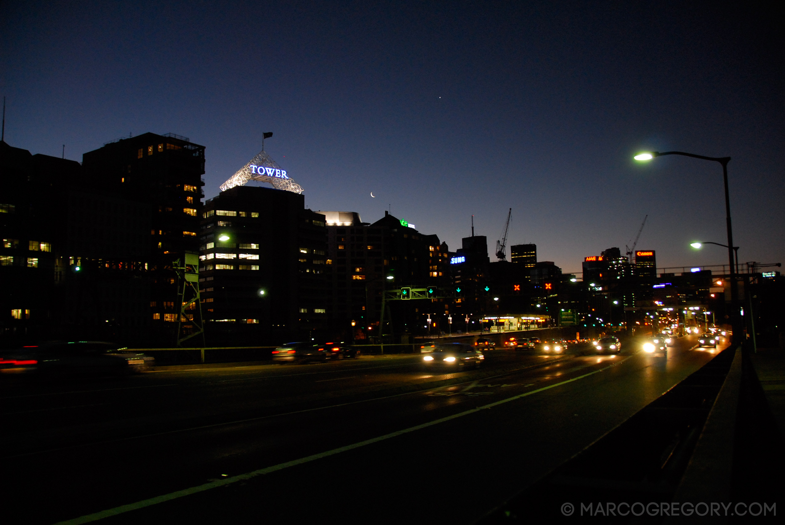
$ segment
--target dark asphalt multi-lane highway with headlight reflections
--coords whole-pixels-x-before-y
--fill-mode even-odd
[[[444,374],[396,355],[3,377],[4,517],[472,523],[725,345],[693,339],[667,359],[634,345],[617,356],[499,348],[480,370]]]

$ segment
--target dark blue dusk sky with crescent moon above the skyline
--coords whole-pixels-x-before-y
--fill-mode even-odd
[[[688,247],[725,242],[721,166],[631,157],[728,155],[740,260],[785,260],[780,13],[555,3],[2,2],[5,141],[81,161],[178,133],[206,146],[210,198],[272,131],[312,210],[391,206],[455,250],[512,208],[508,243],[565,272],[646,214],[658,266],[726,262]]]

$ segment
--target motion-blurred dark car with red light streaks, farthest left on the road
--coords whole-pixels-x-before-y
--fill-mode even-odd
[[[104,341],[49,342],[0,353],[2,374],[126,375],[152,369],[155,359]]]

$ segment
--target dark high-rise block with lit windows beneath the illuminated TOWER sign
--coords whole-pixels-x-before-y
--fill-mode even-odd
[[[304,195],[236,186],[205,202],[201,223],[208,337],[274,343],[327,326],[325,217]]]

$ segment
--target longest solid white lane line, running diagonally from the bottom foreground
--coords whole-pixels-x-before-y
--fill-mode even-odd
[[[476,407],[469,410],[464,410],[463,412],[459,412],[458,414],[453,414],[451,416],[440,417],[439,419],[436,419],[434,421],[429,421],[428,423],[422,423],[422,425],[414,425],[413,427],[403,428],[403,430],[390,432],[389,434],[385,434],[384,436],[377,436],[371,439],[366,439],[365,441],[360,441],[359,443],[352,443],[351,445],[346,445],[345,447],[338,447],[338,448],[334,448],[333,450],[327,450],[327,452],[319,452],[319,454],[312,454],[310,456],[306,456],[305,458],[295,459],[293,461],[287,461],[285,463],[279,463],[278,465],[272,465],[272,467],[259,468],[258,470],[246,472],[245,474],[240,474],[239,476],[232,476],[225,479],[217,479],[216,481],[211,481],[210,483],[203,483],[202,485],[198,485],[196,487],[190,487],[184,490],[177,490],[175,492],[170,492],[169,494],[156,496],[155,498],[148,498],[142,501],[137,501],[136,503],[130,503],[128,505],[120,505],[119,507],[115,507],[114,509],[106,509],[100,512],[94,512],[93,514],[87,514],[86,516],[79,516],[79,518],[74,518],[72,520],[60,521],[58,523],[55,523],[55,525],[78,525],[79,523],[89,523],[91,521],[103,520],[104,518],[108,518],[110,516],[117,516],[125,512],[130,512],[132,510],[144,509],[144,507],[149,507],[151,505],[158,505],[159,503],[163,503],[165,501],[171,501],[177,498],[183,498],[184,496],[188,496],[191,494],[198,494],[199,492],[203,492],[205,490],[210,490],[217,487],[225,487],[226,485],[237,483],[238,481],[243,481],[245,479],[251,479],[256,476],[264,476],[265,474],[270,474],[272,472],[283,470],[284,468],[294,467],[295,465],[302,465],[304,463],[316,461],[317,459],[328,458],[330,456],[334,456],[335,454],[341,454],[341,452],[347,452],[349,450],[365,447],[373,443],[385,441],[386,439],[391,439],[397,436],[403,436],[403,434],[416,432],[418,430],[422,430],[423,428],[428,428],[433,425],[439,425],[440,423],[452,421],[453,419],[457,419],[458,417],[468,416],[469,414],[474,414],[475,412],[479,412],[480,410],[498,407],[499,405],[502,405],[504,403],[509,403],[510,401],[515,401],[516,399],[520,399],[526,396],[531,396],[532,394],[542,392],[543,390],[548,390],[550,388],[556,388],[557,386],[566,385],[567,383],[571,383],[572,381],[578,381],[583,377],[589,377],[591,375],[597,374],[604,370],[608,370],[612,366],[615,366],[619,363],[623,363],[627,359],[630,358],[627,357],[625,359],[622,359],[621,361],[613,363],[610,366],[605,366],[600,370],[594,370],[593,372],[590,372],[588,374],[583,374],[578,377],[573,377],[572,379],[561,381],[560,383],[556,383],[554,385],[537,388],[536,390],[532,390],[531,392],[524,392],[523,394],[518,394],[517,396],[508,397],[507,399],[495,401],[494,403],[488,403],[487,405],[484,405],[482,407]]]

